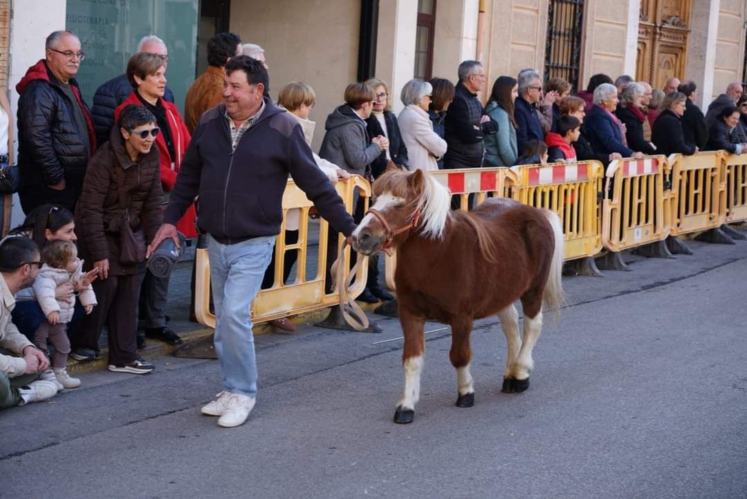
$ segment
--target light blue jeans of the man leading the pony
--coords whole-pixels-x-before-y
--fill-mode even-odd
[[[270,264],[275,236],[257,237],[234,245],[208,240],[210,280],[215,304],[215,351],[223,387],[231,393],[257,395],[252,304]]]

